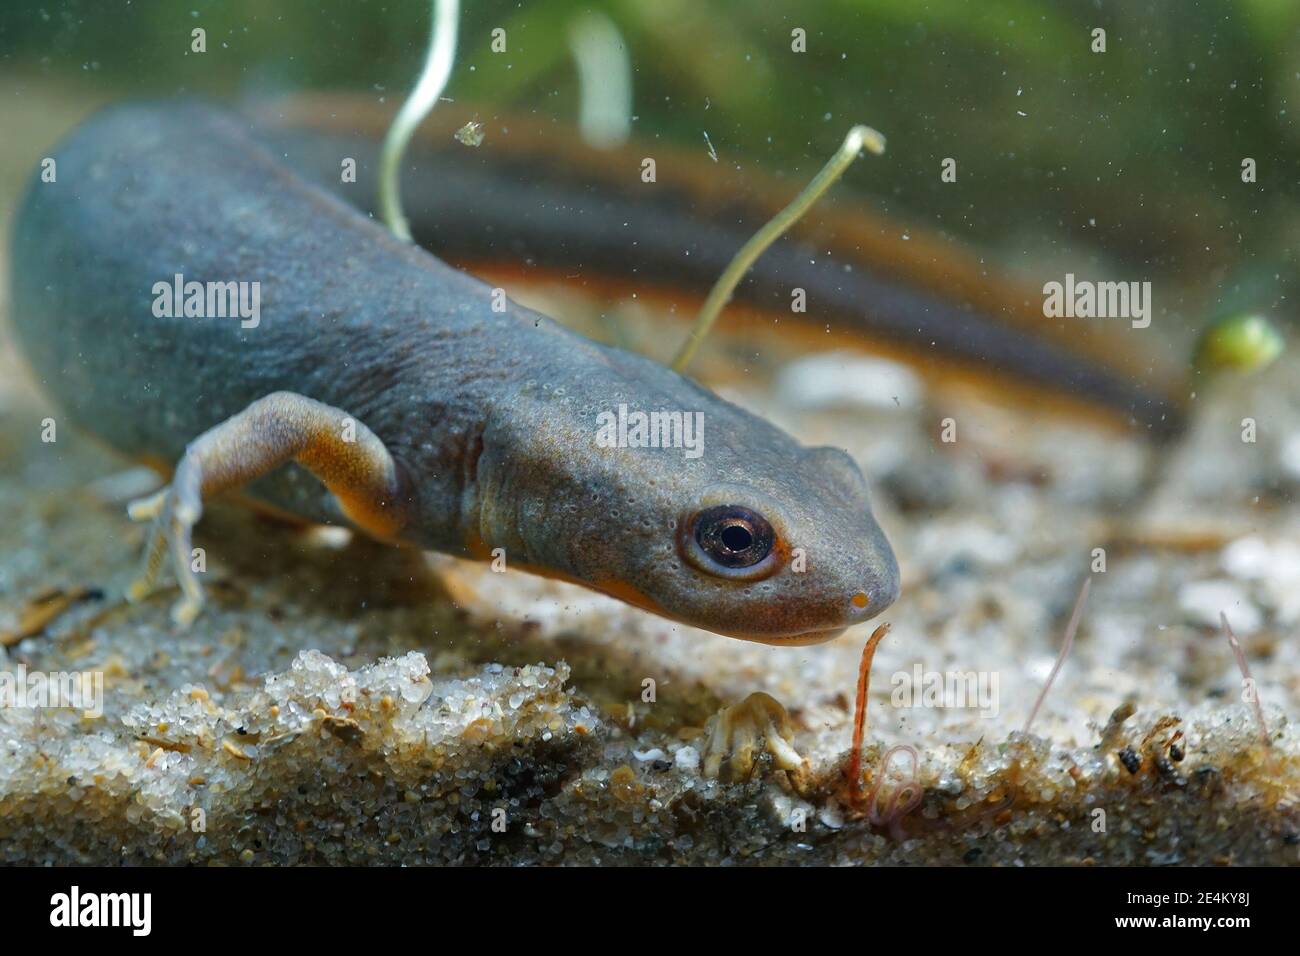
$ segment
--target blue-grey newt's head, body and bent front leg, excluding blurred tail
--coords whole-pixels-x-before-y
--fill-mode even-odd
[[[898,594],[842,450],[805,447],[395,239],[248,120],[110,107],[56,155],[57,182],[34,179],[16,220],[17,341],[75,425],[174,463],[131,509],[153,522],[131,596],[170,562],[178,623],[204,601],[190,563],[203,505],[246,485],[311,522],[502,549],[512,567],[745,640],[829,640]],[[256,316],[234,315],[242,284]],[[599,441],[628,410],[659,414],[666,440]],[[701,454],[667,440],[673,416],[701,423]]]

